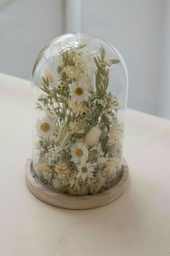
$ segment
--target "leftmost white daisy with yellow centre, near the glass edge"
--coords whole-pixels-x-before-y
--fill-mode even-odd
[[[55,121],[48,116],[43,116],[42,119],[38,119],[35,128],[37,135],[47,138],[55,133]]]

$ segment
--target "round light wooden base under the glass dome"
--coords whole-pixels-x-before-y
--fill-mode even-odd
[[[28,159],[25,166],[25,182],[28,189],[35,197],[47,202],[50,205],[55,205],[66,209],[91,209],[103,205],[107,205],[122,195],[128,184],[128,165],[125,160],[122,163],[122,171],[116,181],[110,184],[109,189],[104,192],[99,192],[96,195],[87,195],[83,197],[75,197],[59,192],[50,185],[42,184],[35,176],[35,171],[32,167],[32,160]]]

